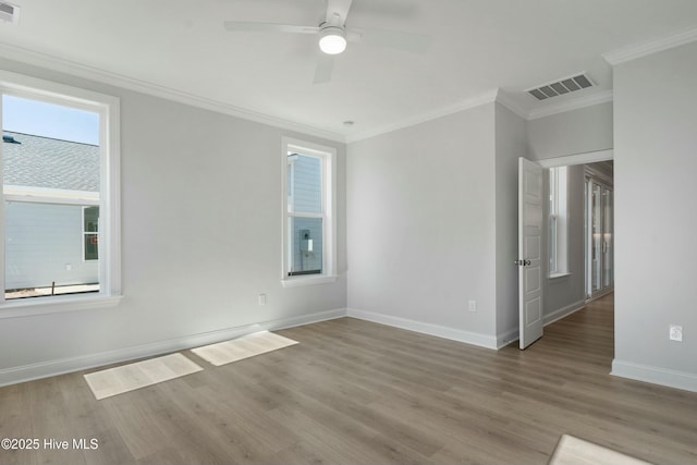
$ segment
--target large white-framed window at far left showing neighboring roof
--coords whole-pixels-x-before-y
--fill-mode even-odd
[[[121,285],[119,100],[1,71],[0,93],[0,318],[112,302]]]

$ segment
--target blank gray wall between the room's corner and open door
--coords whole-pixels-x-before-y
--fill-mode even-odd
[[[496,112],[488,103],[350,144],[351,309],[496,344],[497,242],[511,234],[506,218],[497,235],[497,181],[510,182],[508,162],[517,155],[497,156]],[[510,250],[502,260],[512,262]],[[468,311],[469,299],[477,311]]]

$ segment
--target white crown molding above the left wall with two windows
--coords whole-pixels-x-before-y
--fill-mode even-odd
[[[109,84],[127,90],[134,90],[142,94],[147,94],[155,97],[160,97],[180,103],[188,105],[192,107],[228,114],[243,120],[267,124],[282,130],[298,132],[333,142],[345,142],[345,137],[339,133],[320,130],[301,123],[295,123],[281,118],[270,117],[268,114],[236,107],[234,105],[222,103],[220,101],[211,100],[194,94],[175,90],[145,81],[134,79],[132,77],[123,76],[109,71],[87,66],[70,60],[64,60],[8,44],[0,42],[0,57],[20,63],[39,66],[47,70],[65,73],[72,76],[96,81],[102,84]]]

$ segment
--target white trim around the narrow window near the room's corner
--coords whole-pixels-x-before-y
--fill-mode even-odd
[[[281,285],[295,287],[301,285],[325,284],[337,281],[337,149],[318,144],[282,137],[281,146],[281,183],[282,183],[282,245],[281,245]],[[322,159],[322,208],[323,217],[323,248],[322,273],[289,277],[289,230],[288,230],[288,152],[297,151],[317,156]],[[295,216],[299,216],[295,213]]]

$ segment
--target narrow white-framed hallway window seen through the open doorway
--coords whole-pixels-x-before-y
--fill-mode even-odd
[[[549,274],[568,273],[568,170],[549,169]]]

